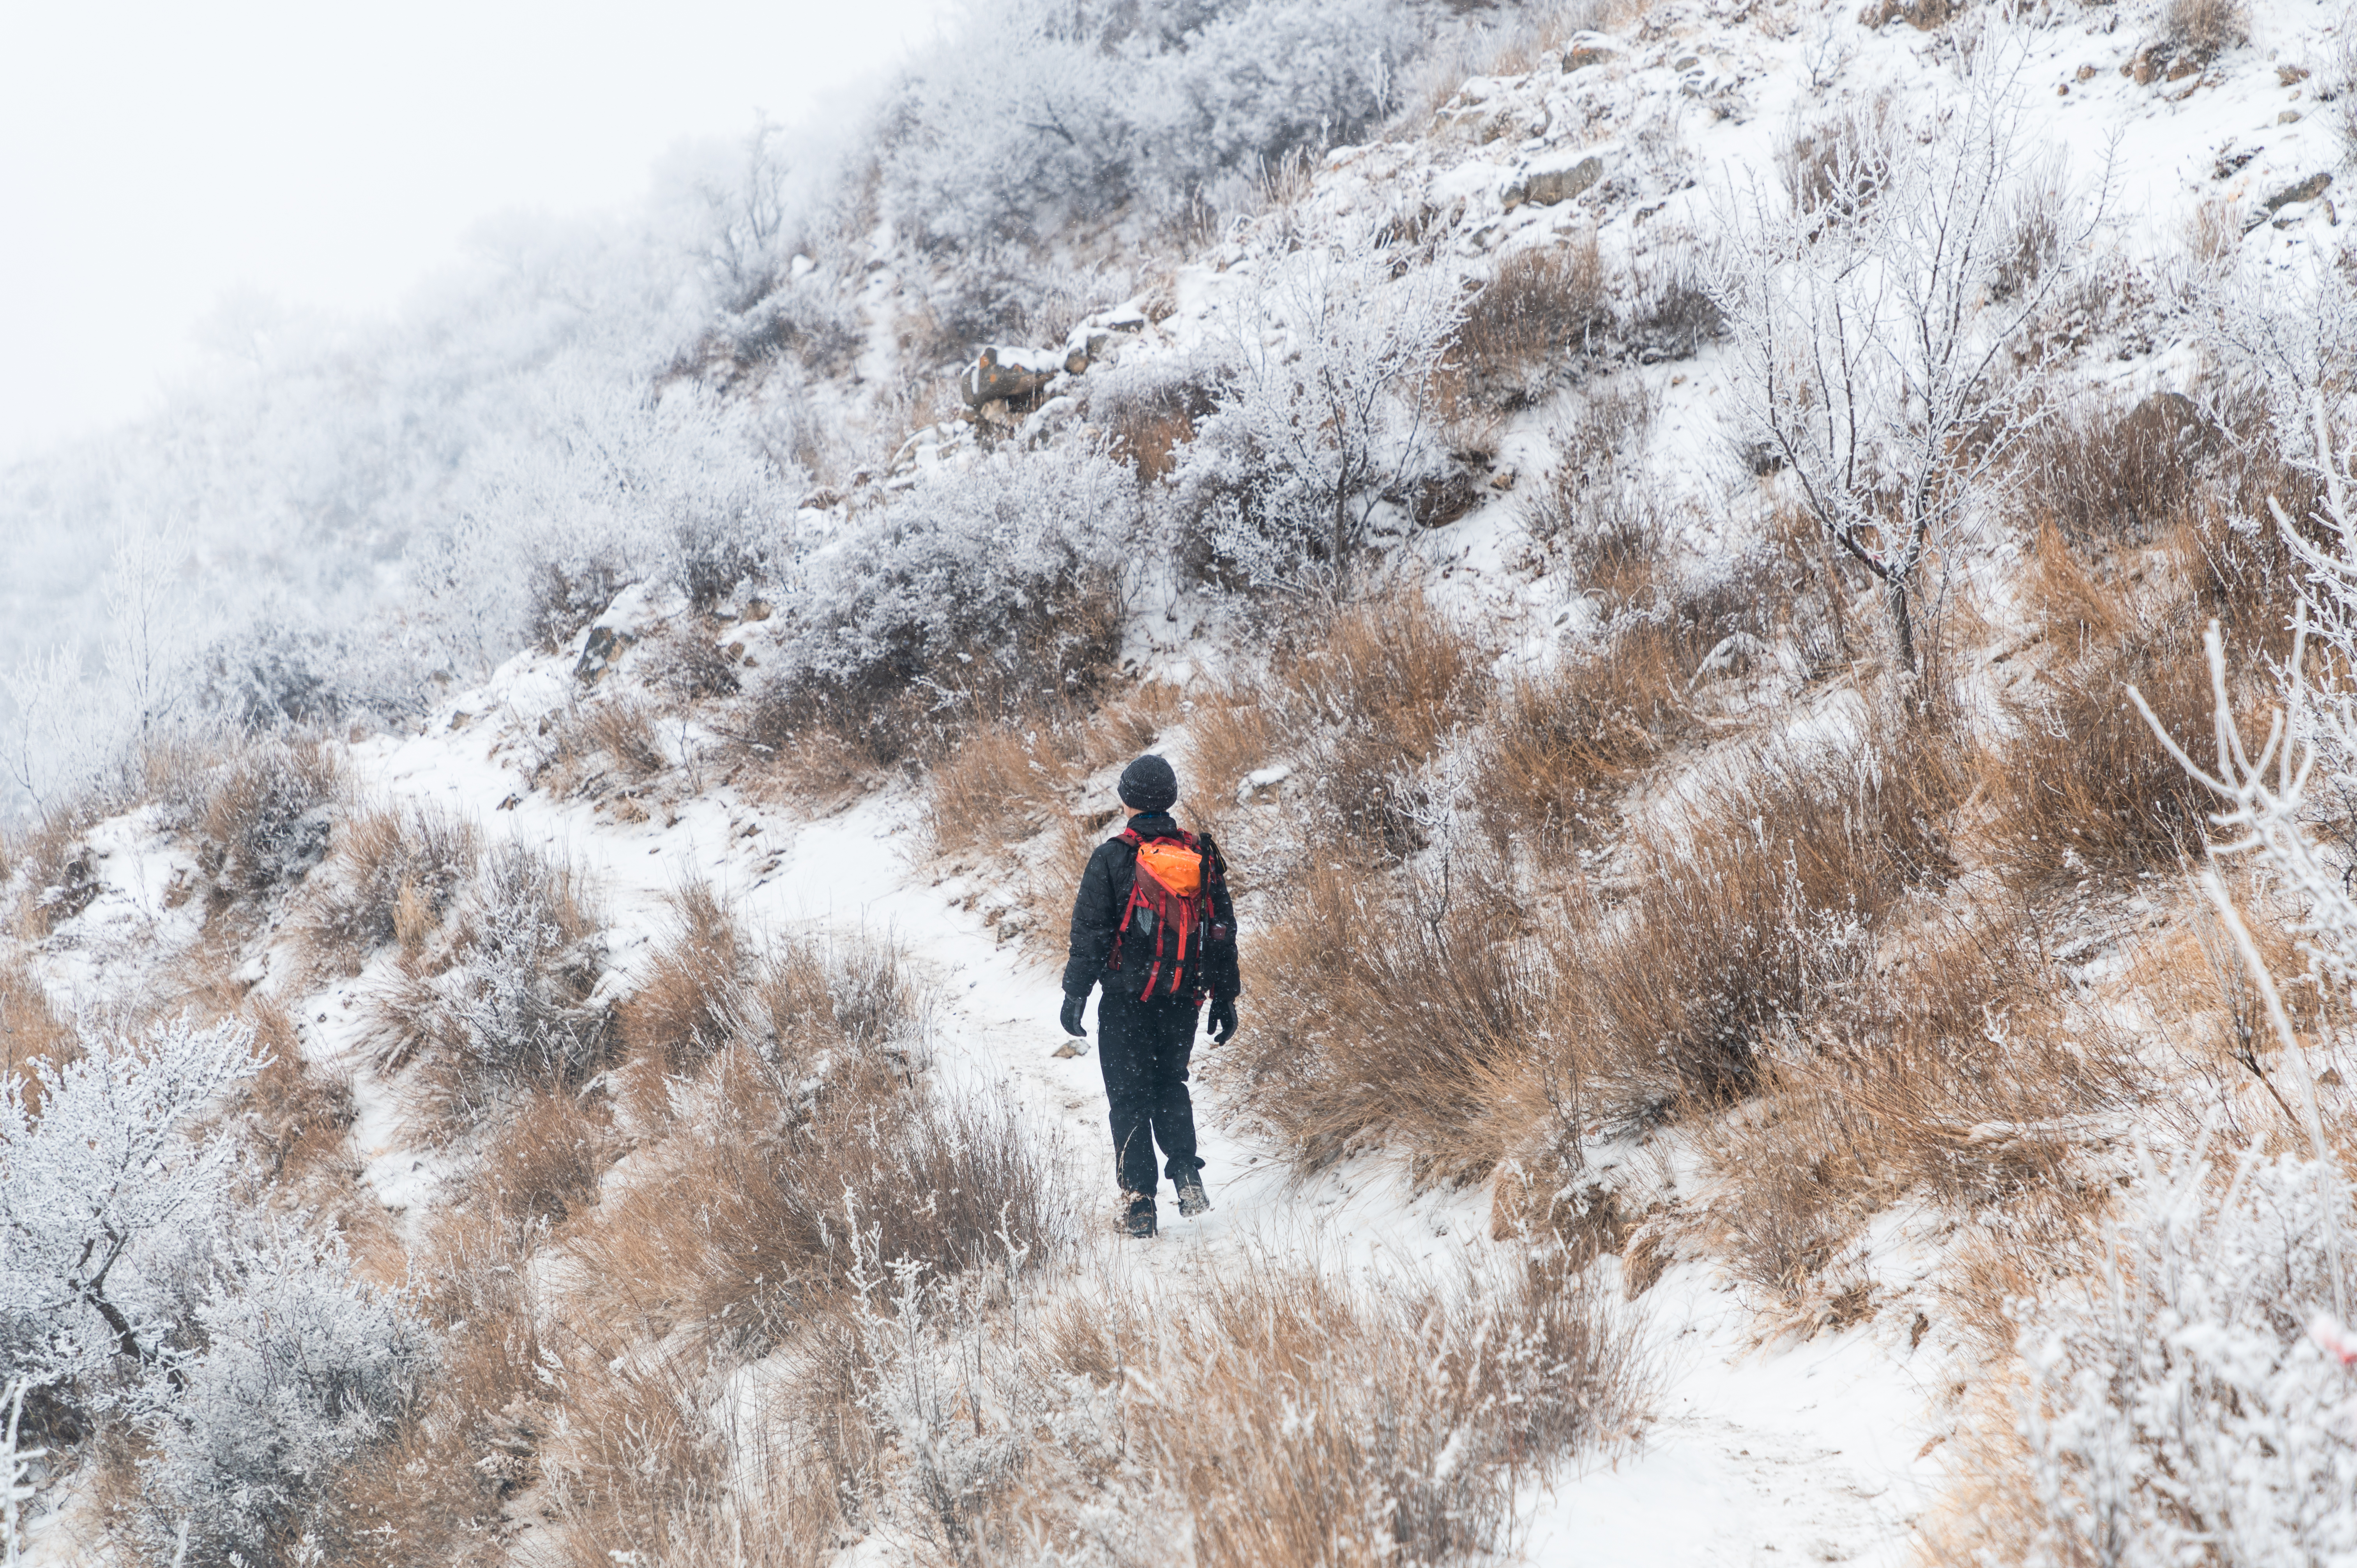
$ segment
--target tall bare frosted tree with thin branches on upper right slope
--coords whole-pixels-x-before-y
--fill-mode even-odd
[[[2060,215],[2060,243],[2022,233],[2020,54],[1982,54],[1923,141],[1853,120],[1796,144],[1782,184],[1732,191],[1711,283],[1739,439],[1881,582],[1909,672],[1923,559],[2003,488],[2034,417],[2013,356],[2100,215]]]

